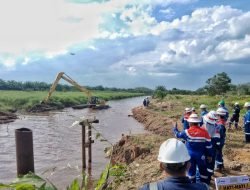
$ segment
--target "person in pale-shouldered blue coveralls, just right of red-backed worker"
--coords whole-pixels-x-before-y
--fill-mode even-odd
[[[220,146],[220,130],[216,125],[217,119],[216,112],[213,110],[203,116],[204,125],[202,127],[204,127],[210,135],[212,144],[212,162],[207,162],[208,181],[211,181],[211,177],[214,174],[215,157]]]

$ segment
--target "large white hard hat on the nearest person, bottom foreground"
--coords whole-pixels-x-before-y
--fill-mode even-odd
[[[169,164],[183,163],[190,160],[186,145],[170,138],[163,142],[159,149],[158,161]]]

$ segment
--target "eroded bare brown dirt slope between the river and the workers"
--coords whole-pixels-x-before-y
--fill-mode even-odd
[[[172,120],[144,107],[132,110],[133,117],[151,133],[123,136],[114,146],[115,163],[127,165],[123,178],[113,181],[111,189],[138,189],[144,183],[163,179],[157,154],[160,144],[172,134]]]

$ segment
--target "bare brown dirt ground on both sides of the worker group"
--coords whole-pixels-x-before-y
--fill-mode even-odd
[[[125,152],[131,152],[130,157],[133,157],[133,159],[127,162],[125,177],[114,183],[113,189],[138,189],[144,183],[163,179],[165,176],[160,172],[159,162],[157,161],[159,146],[164,140],[173,137],[172,127],[177,119],[179,128],[181,128],[180,114],[174,114],[171,103],[153,103],[147,109],[137,107],[132,112],[134,118],[141,122],[145,129],[151,131],[151,133],[126,137],[123,139],[122,144],[117,145],[116,149],[123,151],[115,153],[115,161],[126,163],[125,157],[129,156],[124,154]],[[169,113],[168,116],[162,114],[163,112]],[[224,148],[225,172],[223,174],[215,173],[215,177],[250,175],[250,144],[245,144],[243,140],[242,130],[227,132]],[[134,147],[137,147],[137,149],[146,147],[148,150],[143,154],[133,154]],[[212,185],[212,189],[213,187]]]

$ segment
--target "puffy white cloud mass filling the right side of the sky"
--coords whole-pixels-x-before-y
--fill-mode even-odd
[[[175,76],[169,73],[178,69],[192,72],[194,68],[218,63],[240,63],[250,59],[250,26],[244,24],[247,20],[250,12],[215,6],[197,9],[172,22],[157,23],[146,32],[158,36],[156,48],[130,56],[113,67],[122,69],[132,64],[137,71],[151,76]],[[174,38],[164,39],[173,32],[177,34]]]

